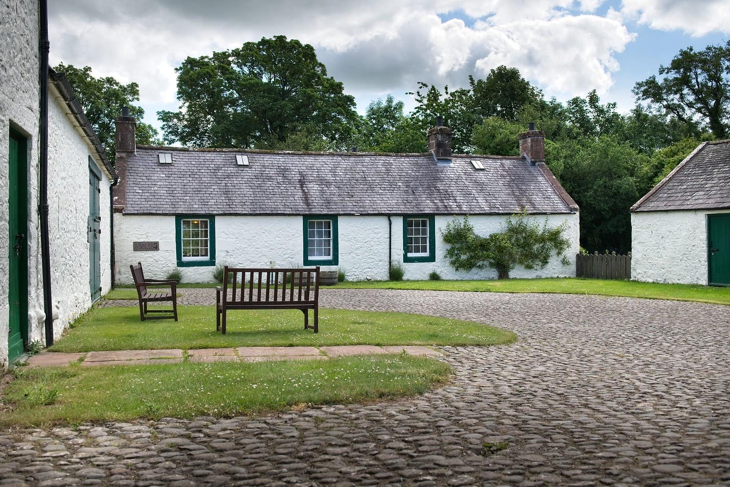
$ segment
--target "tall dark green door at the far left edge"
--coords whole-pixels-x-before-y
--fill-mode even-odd
[[[28,145],[10,131],[9,154],[9,265],[8,361],[23,353],[28,340]]]

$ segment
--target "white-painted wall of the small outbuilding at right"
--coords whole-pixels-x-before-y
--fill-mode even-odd
[[[631,213],[631,279],[707,285],[707,215],[723,212]]]

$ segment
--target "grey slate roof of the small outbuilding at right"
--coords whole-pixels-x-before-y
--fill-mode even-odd
[[[703,142],[631,211],[730,208],[730,140]]]

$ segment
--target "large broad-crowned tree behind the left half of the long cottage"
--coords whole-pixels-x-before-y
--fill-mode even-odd
[[[166,142],[271,148],[308,132],[337,148],[357,118],[314,47],[285,36],[186,58],[176,71],[180,110],[158,112]]]

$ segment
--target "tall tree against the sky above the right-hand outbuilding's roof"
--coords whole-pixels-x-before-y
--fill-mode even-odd
[[[712,134],[724,139],[730,121],[730,41],[701,51],[680,50],[669,66],[634,85],[638,99],[662,107],[667,115],[689,123],[699,118]]]

